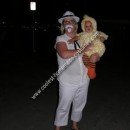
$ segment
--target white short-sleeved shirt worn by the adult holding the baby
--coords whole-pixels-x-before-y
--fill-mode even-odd
[[[71,39],[68,37],[66,34],[57,36],[56,38],[56,44],[62,44],[60,42],[65,42],[67,45],[68,50],[74,50],[74,44],[69,44],[67,41]],[[56,47],[55,44],[55,47]],[[58,53],[57,53],[57,61],[58,61],[58,69],[64,68],[65,66],[67,67],[66,69],[62,69],[62,73],[59,74],[57,80],[59,81],[60,84],[62,85],[83,85],[88,81],[88,76],[87,76],[87,68],[84,66],[83,61],[82,61],[82,55],[79,55],[78,57],[75,58],[74,61],[72,61],[71,64],[67,65],[67,63],[73,59],[68,58],[68,59],[63,59]]]

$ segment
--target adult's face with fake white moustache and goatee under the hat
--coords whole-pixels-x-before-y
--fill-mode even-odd
[[[65,18],[63,21],[63,26],[67,32],[73,32],[75,30],[76,22],[73,18]]]

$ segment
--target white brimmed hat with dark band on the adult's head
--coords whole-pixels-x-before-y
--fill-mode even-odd
[[[65,18],[73,18],[77,23],[79,22],[79,17],[77,17],[77,16],[75,16],[75,14],[73,13],[73,12],[71,12],[71,11],[66,11],[64,14],[63,14],[63,16],[60,18],[60,19],[58,19],[58,22],[60,23],[60,24],[62,24],[62,22],[63,22],[63,20],[65,19]]]

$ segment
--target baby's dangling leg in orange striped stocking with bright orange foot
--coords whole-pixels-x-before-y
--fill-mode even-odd
[[[84,65],[88,68],[88,76],[90,79],[94,79],[96,77],[96,63],[90,62],[90,59],[87,55],[83,55],[82,57]]]

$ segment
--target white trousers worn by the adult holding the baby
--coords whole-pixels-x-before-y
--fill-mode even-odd
[[[59,85],[59,103],[56,110],[54,125],[66,126],[72,104],[71,120],[79,122],[82,118],[82,111],[87,101],[89,80],[80,86]]]

